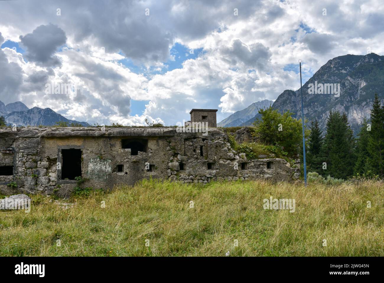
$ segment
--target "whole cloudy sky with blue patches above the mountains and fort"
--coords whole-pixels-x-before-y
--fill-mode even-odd
[[[334,57],[383,55],[383,27],[377,0],[1,1],[0,100],[90,124],[221,121],[298,89],[298,59],[305,82]]]

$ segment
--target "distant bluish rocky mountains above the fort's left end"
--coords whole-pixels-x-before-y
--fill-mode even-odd
[[[79,123],[82,126],[90,126],[87,122],[78,122],[65,118],[50,108],[33,107],[28,109],[20,101],[5,105],[0,101],[0,116],[4,116],[8,124],[18,126],[53,126],[56,122]]]

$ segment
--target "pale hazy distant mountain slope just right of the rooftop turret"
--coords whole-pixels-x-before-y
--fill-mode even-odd
[[[259,111],[259,109],[268,108],[271,104],[273,104],[273,101],[268,99],[258,101],[258,102],[253,102],[247,108],[237,111],[232,115],[228,116],[223,121],[219,122],[217,126],[218,127],[240,126],[240,124],[243,124],[245,121],[248,121],[248,119],[251,119],[256,114],[258,114],[257,112]]]

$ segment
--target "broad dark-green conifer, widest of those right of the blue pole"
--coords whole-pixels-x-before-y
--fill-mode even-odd
[[[327,169],[321,174],[346,179],[352,176],[354,166],[354,138],[346,114],[330,111],[326,129],[321,158]]]

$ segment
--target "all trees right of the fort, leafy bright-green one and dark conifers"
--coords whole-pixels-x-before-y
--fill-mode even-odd
[[[271,105],[258,112],[261,119],[253,123],[254,136],[288,159],[300,157],[303,162],[301,119],[293,118],[289,111],[281,114]],[[384,105],[377,94],[370,116],[364,119],[357,138],[345,113],[330,111],[324,133],[318,121],[312,121],[310,129],[305,129],[307,171],[337,179],[384,178]]]

